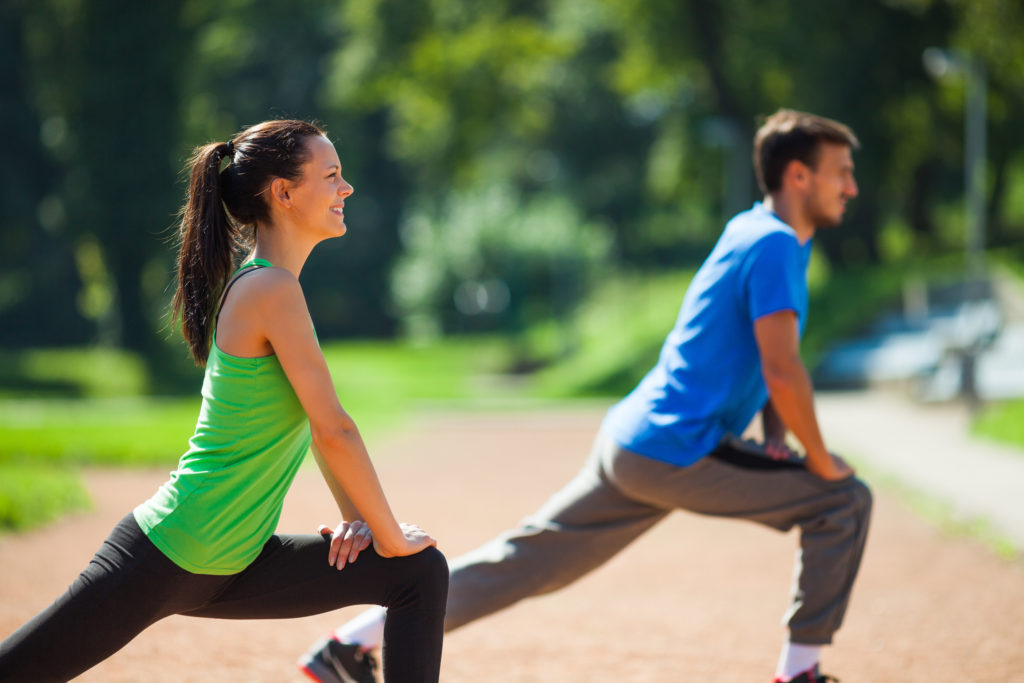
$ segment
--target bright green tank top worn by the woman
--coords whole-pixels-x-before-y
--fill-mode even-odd
[[[256,259],[238,271],[271,264]],[[309,421],[276,355],[217,347],[188,451],[135,519],[157,548],[193,573],[231,574],[259,555],[309,450]]]

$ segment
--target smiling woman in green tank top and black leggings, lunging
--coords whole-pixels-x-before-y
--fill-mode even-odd
[[[0,680],[68,680],[170,614],[376,603],[388,607],[386,680],[436,681],[447,565],[429,535],[391,514],[298,281],[312,248],[346,230],[352,187],[337,152],[311,124],[269,121],[200,147],[190,169],[173,305],[206,365],[196,434],[68,592],[0,644]],[[252,251],[232,275],[243,244]],[[343,521],[275,536],[310,441]]]

